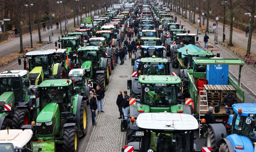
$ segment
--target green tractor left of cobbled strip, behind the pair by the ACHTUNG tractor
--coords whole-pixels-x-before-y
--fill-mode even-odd
[[[85,77],[93,79],[93,87],[100,86],[105,91],[109,83],[108,58],[99,46],[86,46],[77,50],[79,67],[85,70]]]

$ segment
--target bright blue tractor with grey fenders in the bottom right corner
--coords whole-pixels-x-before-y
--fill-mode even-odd
[[[206,146],[212,147],[212,152],[254,152],[256,104],[233,104],[230,109],[227,123],[209,124]]]

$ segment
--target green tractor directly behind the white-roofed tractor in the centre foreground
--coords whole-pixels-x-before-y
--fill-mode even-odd
[[[189,115],[193,112],[190,106],[182,105],[182,81],[178,76],[140,75],[138,82],[141,85],[141,95],[138,95],[139,99],[130,105],[128,116],[138,117],[143,112],[167,111]],[[127,80],[127,89],[131,89],[131,80]],[[138,127],[130,122],[130,118],[127,121],[127,142],[131,142],[135,140],[132,135]]]

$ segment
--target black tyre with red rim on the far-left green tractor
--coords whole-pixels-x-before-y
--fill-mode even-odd
[[[28,109],[15,109],[13,112],[13,128],[19,129],[22,125],[29,124]]]

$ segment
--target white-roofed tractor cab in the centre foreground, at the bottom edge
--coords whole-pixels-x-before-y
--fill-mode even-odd
[[[195,152],[194,131],[199,128],[196,118],[183,113],[140,113],[131,118],[137,126],[137,141],[125,145],[140,152]],[[146,121],[145,121],[146,119]],[[121,132],[127,130],[127,120],[121,121]]]

